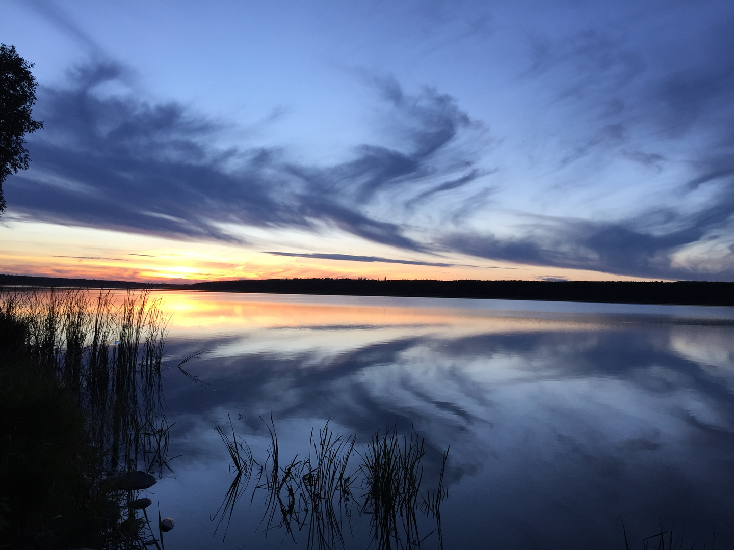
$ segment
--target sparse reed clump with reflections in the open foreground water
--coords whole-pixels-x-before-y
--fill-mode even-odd
[[[215,428],[233,460],[230,469],[236,472],[222,505],[211,518],[214,521],[219,516],[217,529],[225,516],[231,521],[250,472],[257,468],[258,484],[250,502],[256,494],[264,493],[261,524],[266,534],[272,529],[285,529],[286,536],[296,542],[295,533],[306,529],[308,549],[343,548],[345,527],[351,531],[353,520],[368,516],[371,543],[376,549],[420,548],[434,532],[438,547],[443,549],[440,505],[448,496],[443,485],[448,449],[443,453],[437,487],[422,490],[426,451],[424,439],[415,430],[407,436],[396,429],[378,432],[357,452],[356,436],[336,435],[327,421],[318,437],[311,431],[308,456],[296,455],[285,463],[280,457],[272,415],[265,424],[271,441],[262,463],[252,458],[250,447],[237,438],[233,429],[229,439],[230,430],[225,433]],[[362,462],[351,467],[355,455]],[[357,488],[363,490],[360,496],[355,496]],[[357,510],[356,517],[353,509]],[[437,527],[423,537],[417,511],[436,521]]]

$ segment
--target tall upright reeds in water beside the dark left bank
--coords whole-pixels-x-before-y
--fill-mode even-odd
[[[167,319],[159,300],[143,291],[120,301],[109,290],[92,299],[80,289],[0,290],[0,300],[4,326],[15,327],[15,341],[4,348],[76,395],[95,446],[109,449],[106,467],[137,465],[142,449],[150,447],[146,434],[165,438],[161,359]],[[158,455],[146,469],[161,466]]]

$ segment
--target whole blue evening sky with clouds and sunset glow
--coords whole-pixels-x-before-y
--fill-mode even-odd
[[[734,280],[729,1],[0,0],[0,272]]]

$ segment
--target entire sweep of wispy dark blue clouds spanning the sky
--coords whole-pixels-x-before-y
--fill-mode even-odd
[[[548,115],[548,133],[537,138],[541,151],[509,151],[509,160],[508,150],[487,147],[503,136],[490,136],[437,87],[411,93],[396,78],[367,76],[387,113],[384,139],[357,145],[346,161],[316,165],[294,161],[287,147],[216,147],[225,133],[217,120],[180,103],[103,95],[103,85],[130,81],[131,70],[92,62],[71,73],[67,87],[40,91],[45,128],[29,141],[32,169],[8,180],[9,212],[227,243],[244,242],[238,226],[339,230],[441,260],[466,254],[620,275],[733,279],[734,18],[726,11],[683,29],[685,43],[695,45],[685,52],[664,33],[640,32],[653,23],[635,26],[647,17],[639,13],[629,15],[629,26],[589,22],[561,37],[535,34],[513,85],[537,92],[523,107],[528,117]],[[520,166],[531,156],[542,158],[536,172]],[[607,204],[616,186],[637,198]],[[556,208],[566,202],[573,206]],[[719,263],[689,253],[714,244]],[[396,260],[389,252],[268,253],[463,265]]]

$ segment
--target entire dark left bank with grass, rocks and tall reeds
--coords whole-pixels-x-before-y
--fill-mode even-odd
[[[145,292],[0,289],[0,547],[159,543],[105,480],[167,466],[165,332]]]

